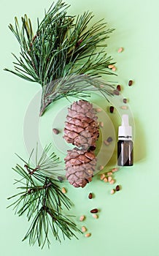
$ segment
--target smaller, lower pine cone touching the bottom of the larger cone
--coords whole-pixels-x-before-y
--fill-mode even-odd
[[[65,158],[66,178],[74,187],[85,187],[92,180],[96,167],[96,157],[93,151],[74,148],[67,151]]]

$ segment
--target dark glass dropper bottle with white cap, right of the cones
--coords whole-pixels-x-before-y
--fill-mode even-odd
[[[117,165],[133,165],[132,127],[128,123],[128,115],[122,116],[122,125],[118,129]]]

